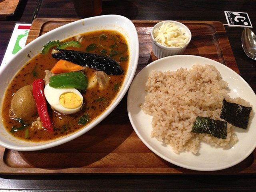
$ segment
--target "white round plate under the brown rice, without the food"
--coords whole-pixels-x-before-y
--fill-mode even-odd
[[[144,144],[164,160],[177,166],[199,171],[214,171],[229,168],[247,158],[256,147],[256,120],[250,119],[247,130],[234,128],[238,142],[228,150],[214,148],[206,142],[200,142],[198,154],[181,152],[176,154],[171,146],[151,138],[152,116],[144,114],[139,105],[144,104],[146,96],[145,84],[152,70],[174,71],[179,68],[191,68],[194,64],[211,64],[220,71],[223,80],[228,82],[229,95],[232,98],[241,97],[250,102],[253,110],[256,107],[256,95],[247,82],[236,72],[223,64],[208,58],[192,55],[169,56],[156,60],[143,68],[134,78],[128,91],[127,108],[130,122]]]

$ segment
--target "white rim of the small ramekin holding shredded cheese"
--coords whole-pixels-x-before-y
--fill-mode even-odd
[[[167,46],[164,46],[164,45],[162,45],[162,44],[156,42],[156,41],[154,40],[154,36],[153,36],[154,29],[157,28],[158,26],[162,25],[164,22],[172,22],[172,23],[175,23],[175,24],[177,24],[178,26],[180,26],[182,29],[185,29],[186,32],[188,32],[188,37],[189,37],[188,42],[186,42],[186,44],[185,44],[184,46],[182,46],[182,47],[167,47]],[[164,20],[164,21],[158,22],[157,24],[154,25],[154,27],[153,27],[152,30],[151,30],[151,38],[152,38],[152,42],[153,42],[156,46],[158,46],[158,47],[160,47],[160,48],[162,48],[162,49],[165,49],[165,50],[180,50],[180,49],[186,48],[186,46],[188,46],[188,44],[189,44],[190,41],[191,41],[192,34],[191,34],[190,29],[189,29],[186,25],[184,25],[183,23],[178,22],[178,21],[174,21],[174,20]]]

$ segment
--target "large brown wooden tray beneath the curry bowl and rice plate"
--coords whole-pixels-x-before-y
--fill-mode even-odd
[[[27,43],[76,19],[38,18]],[[159,21],[133,20],[140,41],[136,73],[157,58],[152,53],[150,31]],[[238,72],[224,26],[216,21],[181,21],[192,32],[184,54],[204,56]],[[256,150],[231,168],[200,172],[180,168],[152,153],[134,132],[127,114],[126,96],[98,126],[61,146],[35,152],[0,147],[1,174],[250,174],[256,172]]]

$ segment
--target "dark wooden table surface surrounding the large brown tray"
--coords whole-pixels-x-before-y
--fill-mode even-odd
[[[256,0],[103,0],[102,15],[131,20],[209,20],[226,24],[224,11],[247,12],[256,25]],[[17,22],[34,18],[79,18],[71,0],[21,0],[13,16],[0,20],[0,60]],[[256,91],[256,61],[241,46],[243,28],[225,26],[240,75]],[[254,28],[252,28],[254,32]],[[1,90],[2,91],[2,90]],[[255,158],[255,157],[254,157]],[[255,170],[256,172],[256,170]],[[30,191],[255,191],[256,174],[37,174],[0,175],[0,190]]]

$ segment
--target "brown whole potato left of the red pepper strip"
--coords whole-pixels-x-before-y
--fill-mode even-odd
[[[13,96],[10,111],[16,118],[30,118],[37,115],[37,108],[32,94],[32,85],[20,88]]]

